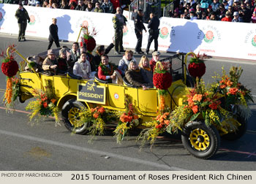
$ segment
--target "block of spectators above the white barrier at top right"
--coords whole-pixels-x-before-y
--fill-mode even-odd
[[[256,0],[173,0],[171,18],[256,23]]]

